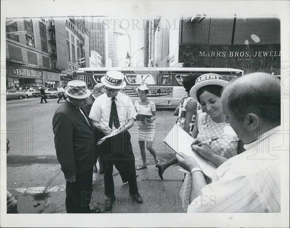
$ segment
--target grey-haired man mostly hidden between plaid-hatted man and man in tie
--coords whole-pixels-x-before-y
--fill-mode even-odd
[[[92,108],[92,105],[95,101],[95,99],[97,97],[99,97],[100,95],[104,94],[106,91],[104,90],[104,85],[102,83],[98,83],[97,85],[94,86],[93,88],[93,93],[90,95],[90,97],[88,98],[87,102],[83,105],[83,108],[84,110],[86,111],[87,114],[90,114],[90,110]],[[97,141],[99,141],[99,139],[101,139],[99,137],[99,134],[100,131],[98,129],[95,129],[95,134],[96,134],[96,139]],[[104,171],[103,171],[103,164],[102,164],[102,161],[101,161],[101,158],[98,157],[98,162],[99,162],[99,165],[100,165],[100,174],[103,174]],[[94,169],[93,171],[95,173],[97,173],[98,171],[98,168],[97,168],[97,163],[94,164]]]

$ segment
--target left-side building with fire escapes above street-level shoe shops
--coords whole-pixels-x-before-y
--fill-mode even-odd
[[[16,31],[27,34],[11,34]],[[83,18],[6,20],[6,86],[66,85],[74,66],[89,66],[88,39]],[[85,63],[76,64],[81,57]]]

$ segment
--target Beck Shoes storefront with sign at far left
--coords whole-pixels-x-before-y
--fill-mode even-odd
[[[41,71],[24,67],[7,67],[6,77],[8,86],[12,87],[39,87],[43,84]]]

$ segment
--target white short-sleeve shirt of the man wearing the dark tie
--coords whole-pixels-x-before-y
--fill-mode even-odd
[[[126,125],[129,119],[137,116],[133,102],[128,95],[118,92],[115,98],[115,103],[117,106],[120,125]],[[106,93],[102,94],[95,99],[89,117],[92,120],[97,121],[101,127],[108,127],[111,105],[112,97],[107,97]]]

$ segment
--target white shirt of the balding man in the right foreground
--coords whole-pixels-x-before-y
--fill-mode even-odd
[[[275,127],[245,144],[246,151],[220,165],[187,212],[280,212],[280,164],[286,151],[277,149],[279,130]]]

